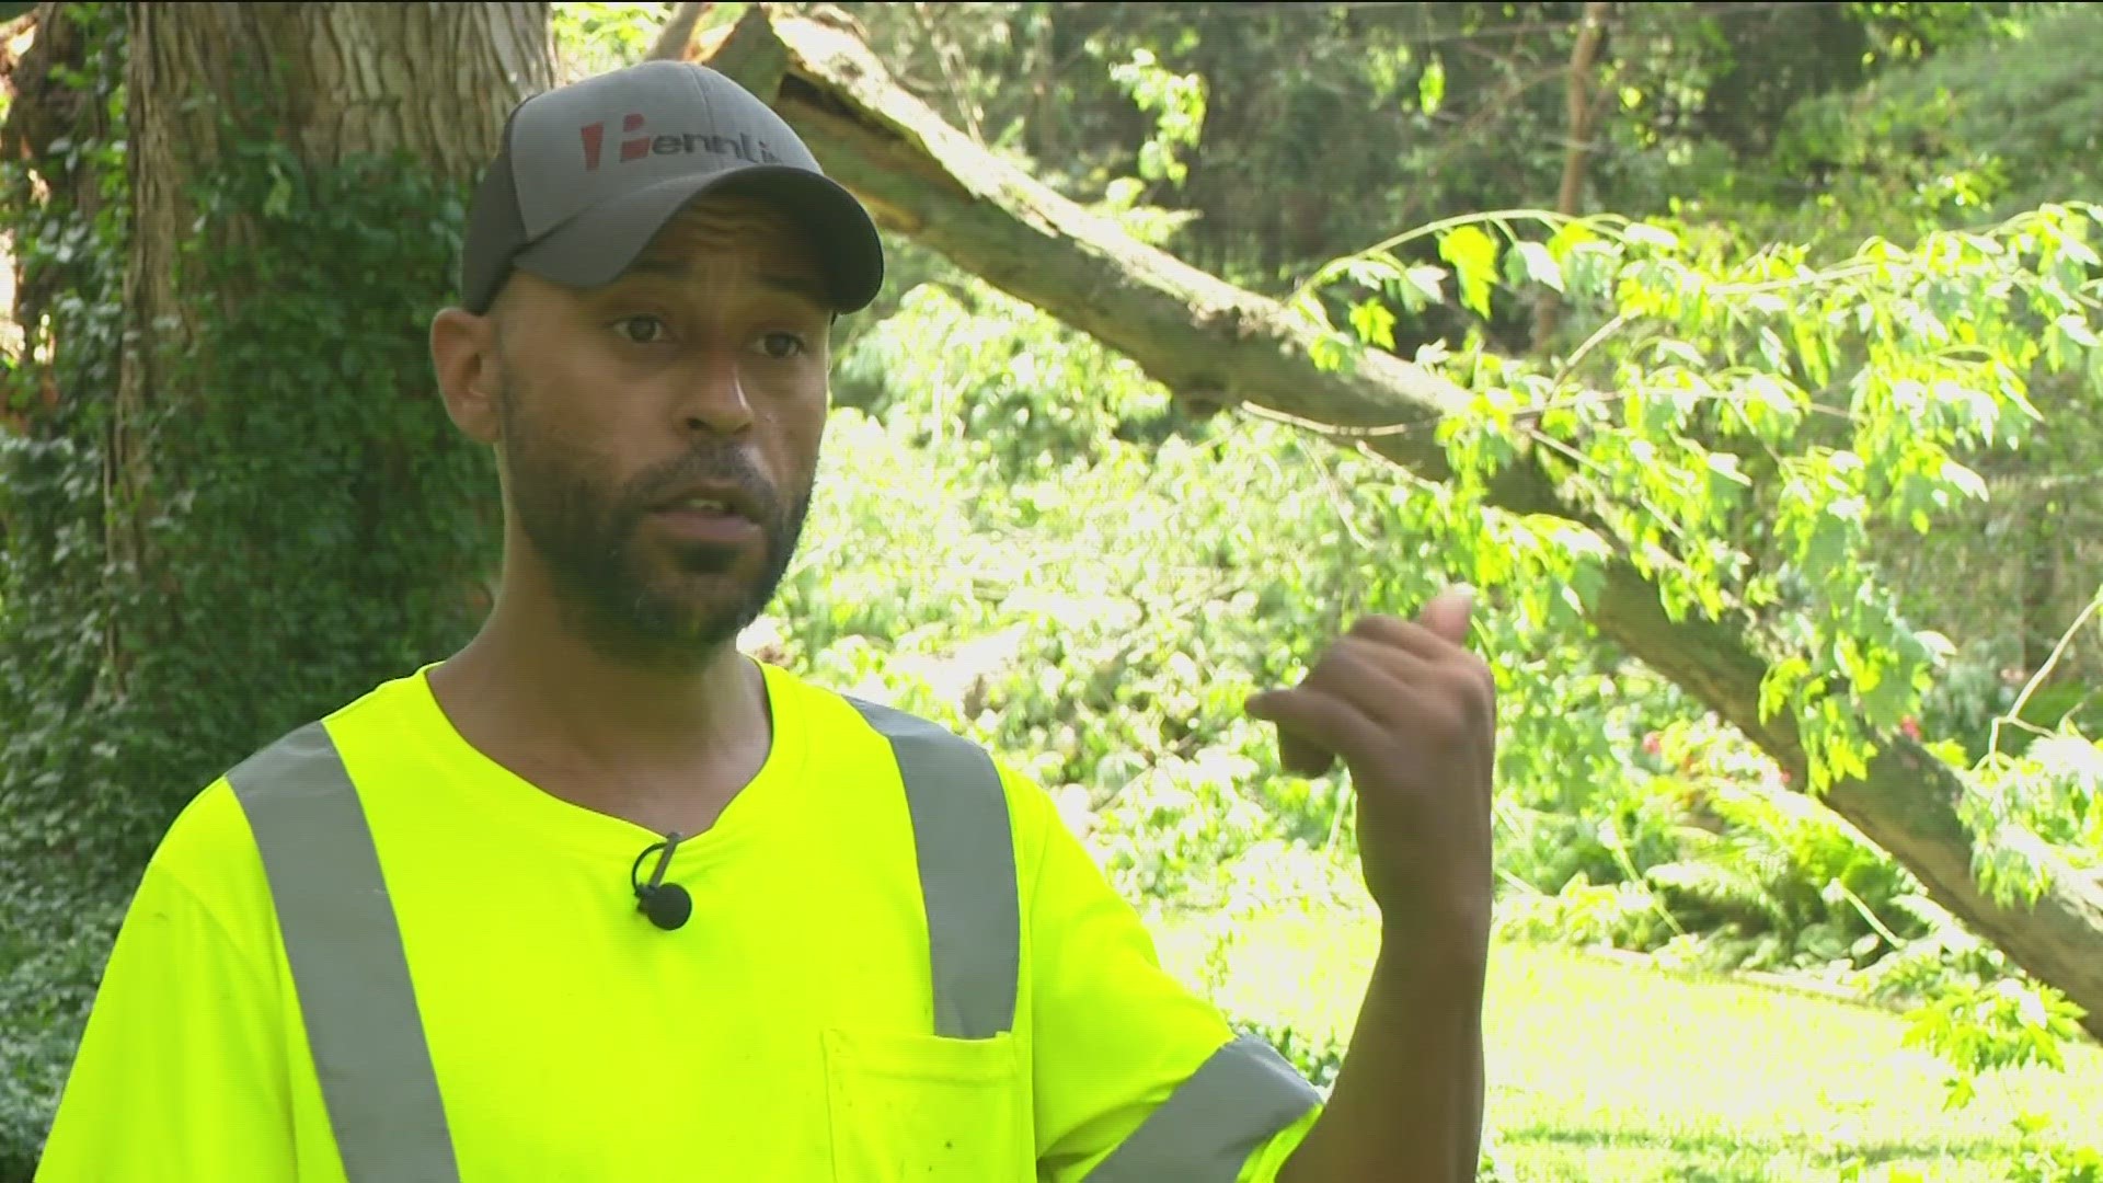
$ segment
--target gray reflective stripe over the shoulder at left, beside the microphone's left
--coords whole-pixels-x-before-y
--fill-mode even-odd
[[[227,773],[269,878],[349,1183],[454,1183],[437,1074],[358,789],[322,724]]]

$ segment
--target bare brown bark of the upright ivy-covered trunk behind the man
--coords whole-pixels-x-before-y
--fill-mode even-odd
[[[229,147],[221,118],[236,112],[244,126],[267,128],[305,168],[402,154],[465,189],[509,109],[553,84],[553,53],[549,6],[532,2],[130,4],[128,19],[135,221],[124,305],[139,345],[118,373],[107,467],[120,512],[107,547],[120,564],[151,570],[143,524],[156,514],[154,455],[135,425],[149,406],[185,398],[160,370],[189,352],[200,318],[259,295],[196,290],[179,257],[193,225],[223,253],[257,234],[257,210],[208,217],[191,198]],[[385,463],[406,474],[414,459]],[[114,644],[118,686],[126,665],[126,646]]]

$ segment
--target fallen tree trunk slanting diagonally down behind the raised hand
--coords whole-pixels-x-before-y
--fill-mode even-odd
[[[1457,387],[1380,352],[1348,373],[1321,370],[1308,354],[1312,333],[1274,301],[1127,238],[980,149],[896,86],[848,21],[755,4],[705,38],[696,57],[772,103],[881,225],[1121,349],[1180,398],[1247,402],[1314,429],[1409,425],[1363,436],[1363,444],[1422,478],[1451,476],[1430,425],[1466,402]],[[1499,474],[1489,499],[1600,528],[1527,453]],[[1617,554],[1586,606],[1592,625],[1737,726],[1798,785],[1809,783],[1796,720],[1760,718],[1767,665],[1750,640],[1714,621],[1674,619],[1626,547]],[[2025,836],[2000,836],[2031,850],[2048,886],[2036,905],[1998,903],[1973,874],[1975,840],[1956,810],[1964,791],[1924,749],[1884,737],[1870,775],[1834,783],[1823,804],[2025,973],[2086,1008],[2084,1025],[2103,1038],[2103,884]]]

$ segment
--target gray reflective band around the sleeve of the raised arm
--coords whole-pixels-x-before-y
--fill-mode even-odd
[[[1319,1103],[1277,1048],[1241,1036],[1211,1052],[1087,1183],[1234,1183],[1260,1145]]]

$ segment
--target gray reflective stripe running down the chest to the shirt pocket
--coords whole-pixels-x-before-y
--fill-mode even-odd
[[[982,747],[959,735],[892,707],[848,701],[892,741],[906,785],[927,909],[934,1031],[959,1040],[1007,1031],[1016,1019],[1022,909],[1001,775]]]

